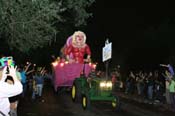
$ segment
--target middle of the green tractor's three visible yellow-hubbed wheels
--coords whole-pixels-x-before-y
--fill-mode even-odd
[[[90,99],[87,95],[82,95],[82,107],[84,110],[89,109],[90,108]]]

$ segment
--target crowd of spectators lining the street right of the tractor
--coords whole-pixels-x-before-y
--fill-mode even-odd
[[[163,70],[133,70],[124,77],[120,71],[111,73],[114,91],[136,95],[149,103],[162,102],[170,104],[175,111],[175,77],[171,65],[160,65]],[[124,79],[123,79],[124,78]]]

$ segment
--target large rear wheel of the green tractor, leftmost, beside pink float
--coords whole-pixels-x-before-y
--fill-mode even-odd
[[[75,83],[72,86],[71,96],[73,102],[77,102],[80,99],[80,90]]]

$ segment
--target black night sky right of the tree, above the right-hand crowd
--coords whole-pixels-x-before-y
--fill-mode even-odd
[[[96,0],[91,10],[86,34],[95,60],[106,38],[113,43],[112,65],[153,67],[174,55],[175,8],[167,3]]]

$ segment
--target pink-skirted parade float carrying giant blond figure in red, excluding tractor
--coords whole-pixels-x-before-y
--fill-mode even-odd
[[[86,35],[76,31],[67,39],[60,56],[52,62],[54,90],[59,93],[65,88],[71,88],[75,78],[81,74],[88,76],[96,67],[96,64],[91,63],[90,57],[91,50],[86,44]]]

